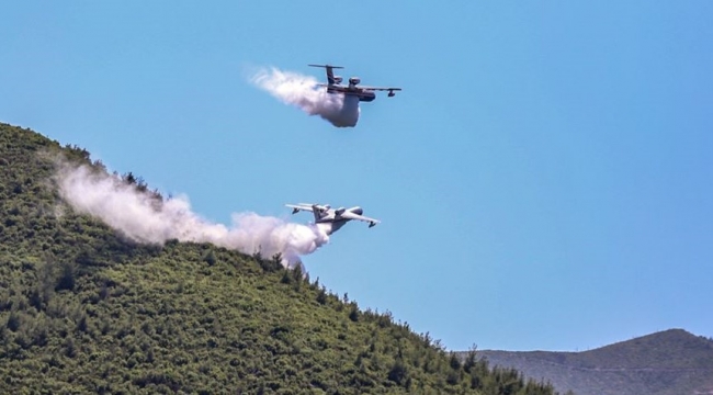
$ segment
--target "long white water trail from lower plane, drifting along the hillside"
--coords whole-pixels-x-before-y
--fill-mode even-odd
[[[60,165],[57,174],[61,196],[78,212],[101,218],[138,242],[162,244],[169,239],[212,242],[270,258],[280,252],[285,267],[299,264],[299,257],[329,241],[317,226],[286,223],[254,213],[233,214],[233,226],[213,224],[191,211],[185,196],[160,201],[116,176],[87,166]]]

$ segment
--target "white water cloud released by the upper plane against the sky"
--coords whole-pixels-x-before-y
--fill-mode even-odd
[[[355,126],[359,121],[359,98],[327,93],[313,77],[271,68],[259,70],[251,80],[284,103],[319,115],[337,127]]]

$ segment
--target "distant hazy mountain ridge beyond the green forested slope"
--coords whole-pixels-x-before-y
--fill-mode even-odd
[[[582,352],[477,352],[577,395],[713,394],[713,340],[669,329]]]

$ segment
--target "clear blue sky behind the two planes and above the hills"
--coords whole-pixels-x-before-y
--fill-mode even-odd
[[[215,222],[363,206],[383,223],[332,235],[312,278],[449,349],[713,336],[711,1],[14,1],[2,20],[0,121]],[[308,63],[404,91],[336,128],[246,72],[322,78]]]

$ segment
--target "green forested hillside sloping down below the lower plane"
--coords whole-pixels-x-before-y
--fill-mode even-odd
[[[91,165],[0,124],[2,394],[554,393],[461,362],[276,260],[126,241],[61,201],[60,157]]]

